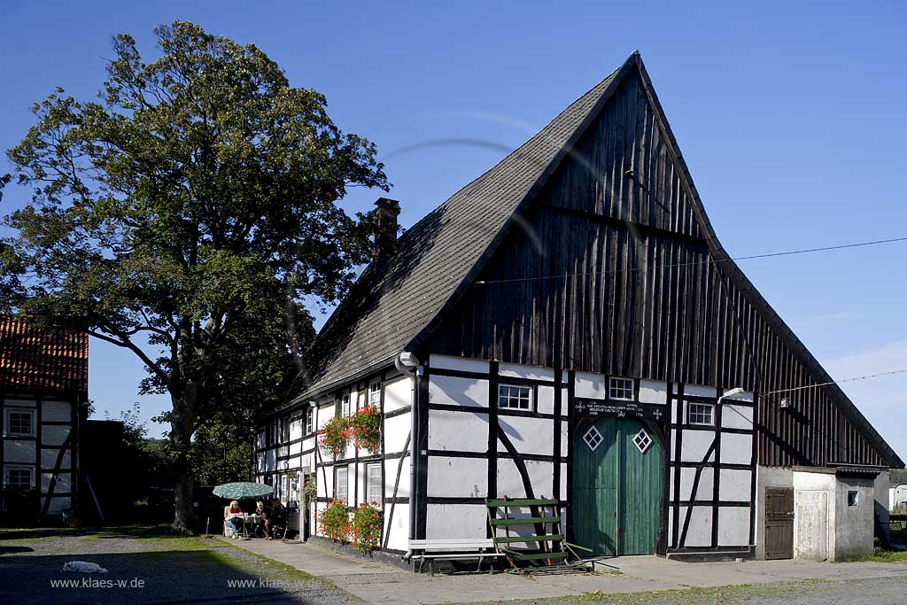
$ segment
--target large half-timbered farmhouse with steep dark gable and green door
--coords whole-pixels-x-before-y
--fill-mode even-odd
[[[259,427],[257,478],[377,502],[382,546],[553,498],[598,554],[834,559],[902,461],[731,260],[639,54],[395,240]],[[380,451],[317,433],[380,408]],[[317,529],[315,531],[317,533]]]

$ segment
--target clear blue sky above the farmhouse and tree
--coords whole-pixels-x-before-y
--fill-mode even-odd
[[[112,34],[151,56],[151,27],[187,19],[258,44],[293,85],[325,93],[341,128],[377,143],[408,226],[639,49],[732,255],[907,235],[903,3],[323,4],[5,3],[0,147],[54,86],[93,95]],[[450,140],[476,143],[424,145]],[[375,197],[354,190],[345,207]],[[741,265],[844,378],[907,367],[905,256],[902,243]],[[141,376],[137,360],[92,342],[101,415],[168,405],[136,394]],[[844,388],[907,456],[907,377]]]

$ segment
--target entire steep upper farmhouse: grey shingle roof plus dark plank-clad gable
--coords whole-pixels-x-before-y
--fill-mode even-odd
[[[609,137],[630,141],[629,161],[604,161]],[[555,210],[557,220],[538,220]],[[590,227],[596,220],[602,225]],[[514,229],[519,225],[530,229]],[[545,262],[539,262],[524,230],[560,242],[561,249],[542,251]],[[327,322],[307,357],[312,379],[297,390],[297,401],[424,346],[513,363],[742,385],[759,393],[831,382],[722,248],[639,54],[419,221],[399,244],[386,266],[366,269]],[[605,249],[611,256],[602,257]],[[595,250],[598,258],[589,256]],[[683,270],[663,272],[649,290],[640,289],[634,270],[614,267],[620,270],[604,281],[587,272],[616,259],[627,267]],[[545,279],[551,275],[565,276],[562,295]],[[525,306],[501,310],[495,298],[506,298],[502,290],[476,284],[513,276],[530,279],[505,286],[508,296],[530,301]],[[628,298],[619,290],[642,295]],[[647,294],[673,307],[649,305]],[[571,306],[594,317],[558,310]],[[584,319],[589,326],[578,324]],[[594,325],[606,321],[609,326]],[[652,337],[655,332],[660,336]],[[616,344],[606,346],[603,335]],[[798,396],[802,417],[764,400],[761,464],[902,466],[836,385]],[[804,433],[810,436],[800,439]]]

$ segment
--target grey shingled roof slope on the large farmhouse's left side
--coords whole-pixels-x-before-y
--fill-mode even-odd
[[[429,327],[635,56],[408,229],[385,264],[366,268],[309,350],[296,400],[388,363]]]

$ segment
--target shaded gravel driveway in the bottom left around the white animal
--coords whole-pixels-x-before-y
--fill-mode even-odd
[[[63,572],[73,560],[98,563],[109,573]],[[0,530],[0,603],[226,602],[362,603],[327,582],[212,539],[138,530]]]

